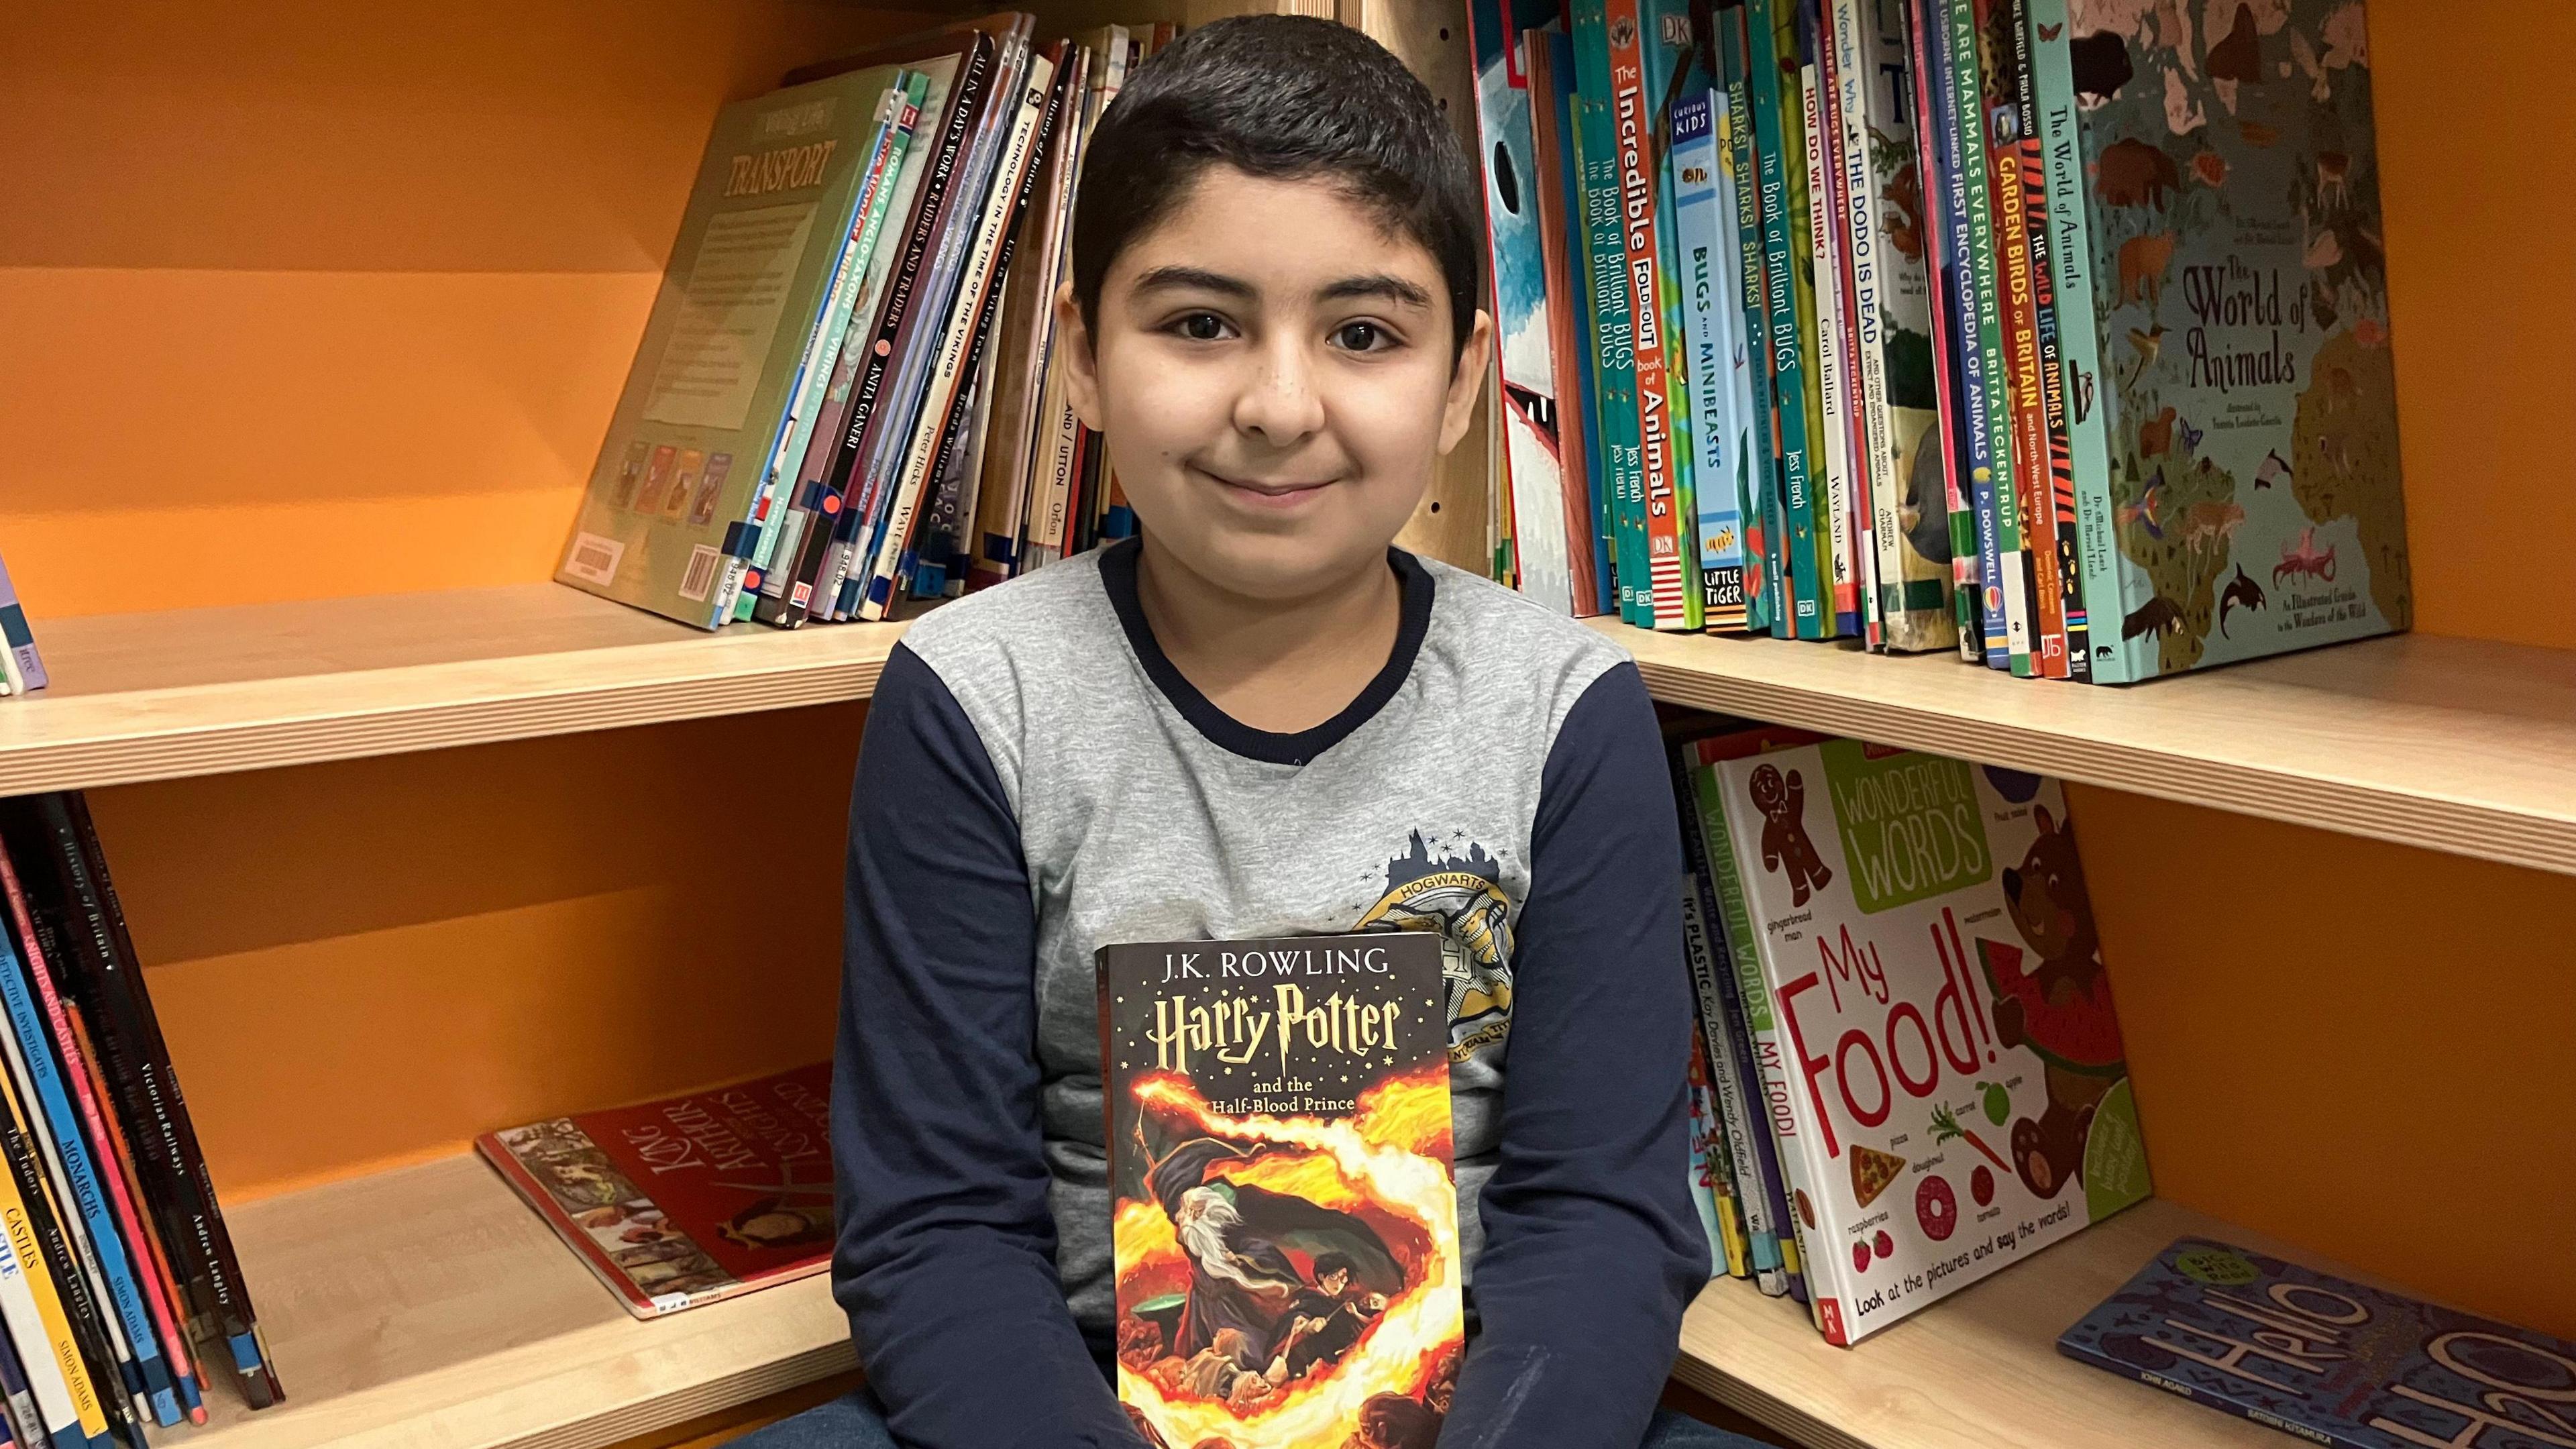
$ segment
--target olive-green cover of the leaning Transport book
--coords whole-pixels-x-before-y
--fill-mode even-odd
[[[742,521],[788,428],[884,90],[886,75],[853,72],[716,113],[559,580],[701,629],[732,616],[732,598],[716,611],[726,547],[750,552]],[[693,487],[724,459],[724,482],[706,505],[675,487],[621,505],[636,443],[698,454]]]

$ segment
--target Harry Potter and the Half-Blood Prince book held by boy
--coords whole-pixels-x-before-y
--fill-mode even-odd
[[[1430,1444],[1463,1351],[1419,931],[1100,949],[1118,1397],[1146,1444]]]

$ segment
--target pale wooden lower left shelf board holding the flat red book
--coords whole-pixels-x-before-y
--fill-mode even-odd
[[[858,1364],[824,1276],[639,1323],[479,1158],[227,1214],[286,1403],[185,1449],[590,1449]]]

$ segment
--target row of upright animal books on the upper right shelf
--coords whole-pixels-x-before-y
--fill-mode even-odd
[[[1517,588],[2079,681],[2409,627],[2357,0],[1468,21]]]

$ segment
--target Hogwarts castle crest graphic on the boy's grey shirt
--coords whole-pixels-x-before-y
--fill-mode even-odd
[[[1502,864],[1473,841],[1466,853],[1435,851],[1412,833],[1386,861],[1386,892],[1352,931],[1396,928],[1440,933],[1440,980],[1448,982],[1450,1065],[1499,1052],[1512,1034],[1512,897]]]

